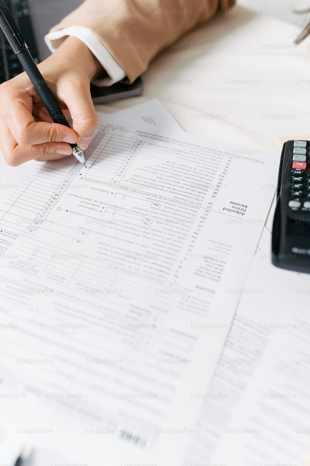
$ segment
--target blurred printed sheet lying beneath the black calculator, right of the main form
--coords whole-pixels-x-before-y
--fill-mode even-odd
[[[270,245],[264,228],[184,465],[309,466],[310,275]]]

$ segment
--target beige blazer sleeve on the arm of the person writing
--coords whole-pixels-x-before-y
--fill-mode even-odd
[[[132,82],[158,52],[211,18],[218,8],[230,8],[235,1],[86,0],[51,31],[88,27]]]

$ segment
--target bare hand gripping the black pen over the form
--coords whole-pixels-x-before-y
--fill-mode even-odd
[[[38,65],[73,129],[53,123],[26,73],[0,85],[0,148],[7,164],[47,161],[72,153],[68,143],[83,150],[98,124],[90,80],[103,68],[84,42],[67,37]]]

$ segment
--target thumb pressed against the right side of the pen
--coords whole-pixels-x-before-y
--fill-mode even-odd
[[[90,144],[92,133],[98,125],[98,117],[92,103],[89,84],[76,86],[66,96],[66,105],[73,120],[73,130],[78,135],[78,146],[85,150]]]

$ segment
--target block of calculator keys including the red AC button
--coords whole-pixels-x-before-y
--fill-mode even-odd
[[[294,141],[291,160],[289,207],[310,209],[310,149],[307,149],[306,141]]]

